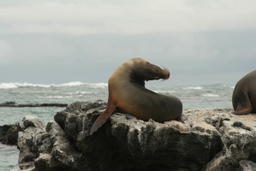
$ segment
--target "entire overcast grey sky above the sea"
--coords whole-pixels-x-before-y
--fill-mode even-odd
[[[256,68],[255,0],[0,0],[0,83],[107,82],[142,57],[158,85],[235,83]]]

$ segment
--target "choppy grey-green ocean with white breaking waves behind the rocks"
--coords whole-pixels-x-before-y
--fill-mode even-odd
[[[146,85],[146,88],[164,95],[179,97],[183,109],[232,109],[234,85],[188,85],[161,86]],[[107,102],[108,85],[106,83],[70,82],[60,85],[30,83],[0,83],[0,103],[74,103],[76,101]],[[53,121],[57,111],[65,108],[0,108],[0,126],[21,121],[25,115],[35,115],[45,123]],[[0,170],[17,169],[19,150],[14,145],[0,143]]]

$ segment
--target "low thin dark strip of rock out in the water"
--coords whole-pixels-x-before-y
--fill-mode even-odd
[[[12,107],[12,108],[24,108],[24,107],[67,107],[68,104],[65,103],[15,103],[15,102],[6,102],[0,103],[0,107]]]

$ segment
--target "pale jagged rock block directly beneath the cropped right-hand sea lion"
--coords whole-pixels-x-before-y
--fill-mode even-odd
[[[223,119],[218,128],[222,134],[223,150],[205,169],[235,170],[244,165],[241,161],[256,162],[256,115],[224,114]]]

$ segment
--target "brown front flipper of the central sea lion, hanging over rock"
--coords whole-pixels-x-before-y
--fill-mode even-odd
[[[105,111],[98,116],[98,118],[96,119],[96,121],[94,121],[91,130],[90,130],[90,135],[92,135],[92,133],[96,132],[98,130],[99,127],[101,127],[105,121],[108,120],[108,118],[110,117],[110,115],[113,113],[113,111],[116,109],[116,105],[114,103],[108,103],[107,109],[105,109]]]

